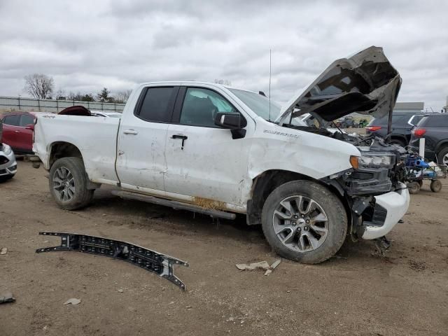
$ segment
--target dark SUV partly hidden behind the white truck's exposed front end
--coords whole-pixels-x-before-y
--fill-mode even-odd
[[[405,147],[411,139],[412,128],[419,123],[424,114],[393,113],[390,144]],[[381,138],[387,135],[388,116],[373,118],[365,128],[367,135],[376,134]]]

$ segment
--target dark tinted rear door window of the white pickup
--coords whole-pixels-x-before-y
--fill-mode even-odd
[[[175,87],[149,87],[137,116],[147,121],[168,123],[171,120],[176,92]]]

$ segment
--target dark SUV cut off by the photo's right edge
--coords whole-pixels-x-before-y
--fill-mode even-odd
[[[425,138],[425,158],[448,165],[448,113],[423,116],[412,130],[409,146],[418,151],[421,138]]]

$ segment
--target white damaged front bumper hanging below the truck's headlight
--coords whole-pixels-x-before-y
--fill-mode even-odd
[[[388,234],[405,216],[409,208],[409,191],[404,183],[390,193],[374,196],[373,213],[369,221],[363,221],[359,230],[363,239],[377,239]],[[361,214],[362,216],[362,214]]]

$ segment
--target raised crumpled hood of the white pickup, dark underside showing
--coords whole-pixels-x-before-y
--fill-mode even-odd
[[[383,48],[372,46],[333,62],[302,94],[283,106],[276,122],[289,123],[291,112],[293,118],[310,113],[327,122],[353,112],[380,118],[395,106],[400,85],[400,74]]]

